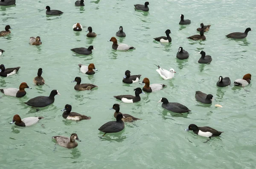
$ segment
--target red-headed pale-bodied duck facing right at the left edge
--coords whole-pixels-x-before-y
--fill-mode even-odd
[[[26,82],[23,82],[20,84],[19,89],[5,88],[5,89],[0,89],[0,91],[6,96],[14,96],[14,97],[20,98],[26,95],[26,91],[24,90],[25,88],[32,89],[26,84]]]

